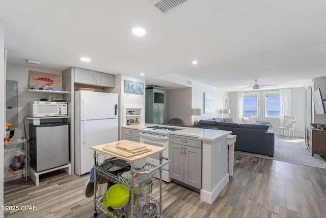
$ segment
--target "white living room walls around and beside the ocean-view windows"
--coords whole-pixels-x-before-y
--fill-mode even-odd
[[[273,126],[270,129],[278,132],[278,124],[280,123],[279,118],[264,118],[264,101],[263,101],[263,92],[268,90],[259,91],[260,95],[260,117],[253,119],[253,122],[256,120],[270,120],[270,124]],[[229,94],[230,97],[230,109],[231,109],[231,117],[236,119],[236,108],[237,108],[237,96],[236,92],[231,92]],[[291,106],[290,106],[290,115],[295,115],[297,119],[297,123],[294,127],[294,135],[298,137],[305,136],[305,126],[306,126],[306,91],[305,88],[292,88],[291,89]],[[235,113],[232,113],[235,111]],[[282,134],[282,133],[281,133]]]

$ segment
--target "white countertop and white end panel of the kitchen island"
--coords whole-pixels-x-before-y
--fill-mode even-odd
[[[138,130],[142,127],[157,126],[139,124],[122,128]],[[171,126],[173,128],[173,126]],[[170,132],[169,135],[193,137],[201,141],[202,165],[200,199],[212,204],[229,182],[228,174],[228,144],[231,131],[202,128],[184,128]]]

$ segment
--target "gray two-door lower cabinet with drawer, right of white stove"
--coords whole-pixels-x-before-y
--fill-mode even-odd
[[[170,135],[170,177],[189,186],[201,189],[202,147],[194,137]]]

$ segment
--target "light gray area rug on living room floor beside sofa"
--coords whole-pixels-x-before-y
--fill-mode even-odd
[[[249,152],[234,151],[235,153],[252,155],[256,157],[279,160],[319,168],[326,168],[326,156],[314,154],[308,150],[304,138],[275,138],[274,157]]]

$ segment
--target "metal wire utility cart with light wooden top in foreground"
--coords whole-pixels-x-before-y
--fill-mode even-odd
[[[139,154],[132,157],[126,157],[121,154],[119,154],[119,150],[116,149],[116,146],[118,144],[130,144],[138,145],[138,146],[146,146],[149,150],[146,153]],[[103,213],[106,213],[108,216],[118,218],[120,216],[115,215],[113,212],[110,212],[105,208],[105,206],[101,203],[101,201],[97,201],[96,199],[96,174],[101,175],[102,177],[106,178],[107,180],[115,183],[115,184],[124,184],[129,188],[130,191],[130,202],[134,202],[134,187],[139,185],[142,182],[145,182],[153,177],[159,178],[159,200],[150,197],[150,202],[156,204],[156,208],[149,211],[145,216],[143,217],[152,217],[154,214],[157,213],[157,210],[159,208],[159,214],[156,217],[163,217],[162,216],[162,167],[170,162],[169,158],[162,157],[162,151],[165,150],[165,148],[158,147],[158,146],[152,146],[149,144],[143,144],[139,142],[129,141],[129,140],[120,140],[116,142],[111,142],[107,144],[100,144],[98,146],[92,146],[90,147],[94,150],[94,216],[97,216],[97,208],[99,208]],[[111,150],[112,149],[112,150]],[[144,159],[150,155],[159,153],[159,165],[155,166],[150,163],[146,163],[146,165],[142,169],[134,169],[134,161]],[[98,160],[103,160],[106,158],[106,155],[113,156],[117,159],[122,159],[130,163],[130,179],[126,180],[119,176],[116,176],[114,174],[111,174],[110,172],[105,171],[100,165],[101,163],[98,163]],[[103,157],[105,156],[105,157]],[[163,162],[162,160],[166,160]],[[137,174],[139,177],[134,179],[134,175]],[[133,217],[133,206],[134,204],[130,204],[130,217]]]

